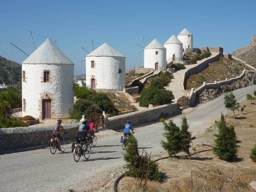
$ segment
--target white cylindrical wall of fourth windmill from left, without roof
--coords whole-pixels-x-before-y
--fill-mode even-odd
[[[164,47],[166,48],[167,63],[173,61],[173,54],[175,54],[175,61],[183,59],[182,44],[164,44]]]

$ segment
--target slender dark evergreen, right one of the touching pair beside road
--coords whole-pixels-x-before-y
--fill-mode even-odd
[[[182,150],[189,156],[190,159],[190,152],[189,148],[191,147],[190,143],[196,137],[192,137],[191,132],[188,131],[189,125],[187,124],[187,118],[184,116],[182,117],[182,124],[181,124],[181,143],[182,143]]]

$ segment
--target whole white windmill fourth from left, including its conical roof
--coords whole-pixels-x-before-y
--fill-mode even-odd
[[[165,43],[167,63],[183,60],[182,42],[175,36],[171,36]]]

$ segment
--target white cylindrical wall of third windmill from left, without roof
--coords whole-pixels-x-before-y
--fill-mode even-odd
[[[156,62],[159,70],[166,70],[166,49],[144,49],[144,68],[155,69]]]

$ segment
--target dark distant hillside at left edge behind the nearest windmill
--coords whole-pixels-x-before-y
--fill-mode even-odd
[[[0,84],[16,85],[22,80],[22,66],[0,56]],[[21,83],[20,83],[21,86]]]

